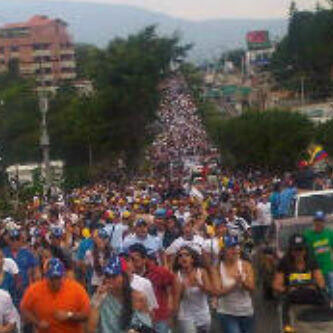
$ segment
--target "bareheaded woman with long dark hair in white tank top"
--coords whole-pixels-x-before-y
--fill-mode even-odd
[[[176,254],[174,270],[180,285],[177,318],[180,332],[208,333],[211,323],[208,295],[213,289],[199,254],[183,246]]]

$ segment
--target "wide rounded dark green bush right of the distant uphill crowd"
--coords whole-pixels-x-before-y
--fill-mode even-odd
[[[299,113],[249,111],[221,121],[218,144],[238,167],[288,170],[303,157],[313,134],[312,123]]]

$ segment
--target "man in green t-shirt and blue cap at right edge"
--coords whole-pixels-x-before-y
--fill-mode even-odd
[[[324,212],[318,211],[313,218],[313,229],[304,232],[304,238],[324,274],[333,308],[333,230],[325,228]]]

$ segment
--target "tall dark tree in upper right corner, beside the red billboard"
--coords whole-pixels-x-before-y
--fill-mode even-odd
[[[271,70],[277,82],[299,91],[299,78],[306,80],[313,99],[333,92],[333,11],[296,11],[289,18],[288,34],[279,43]]]

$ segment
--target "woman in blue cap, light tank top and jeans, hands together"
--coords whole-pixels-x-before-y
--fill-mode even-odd
[[[220,299],[218,317],[224,333],[254,333],[254,307],[251,293],[255,290],[252,265],[240,258],[237,237],[225,236],[224,256],[213,283]]]

